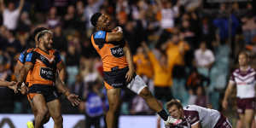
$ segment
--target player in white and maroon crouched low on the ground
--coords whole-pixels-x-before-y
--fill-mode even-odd
[[[180,126],[171,128],[232,128],[230,122],[217,110],[189,105],[183,108],[177,100],[166,103],[170,115],[176,119],[183,119]]]

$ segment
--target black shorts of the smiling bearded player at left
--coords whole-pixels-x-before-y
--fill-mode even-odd
[[[45,84],[33,84],[28,88],[28,98],[30,100],[32,100],[33,96],[36,94],[42,94],[45,102],[51,102],[60,96],[54,85]]]

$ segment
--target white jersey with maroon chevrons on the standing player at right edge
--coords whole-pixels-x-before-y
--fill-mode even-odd
[[[236,69],[230,78],[230,82],[236,84],[236,96],[239,98],[255,97],[256,72],[248,67],[246,72]]]

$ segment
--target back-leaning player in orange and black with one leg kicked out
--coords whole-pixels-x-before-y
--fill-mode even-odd
[[[108,128],[113,128],[121,88],[128,88],[142,96],[148,106],[165,120],[166,125],[179,124],[182,120],[169,116],[148,90],[143,79],[135,73],[131,51],[123,38],[122,28],[118,26],[111,32],[110,18],[101,13],[92,15],[90,21],[96,27],[96,32],[91,35],[91,43],[103,62],[103,79],[109,102],[106,116]]]

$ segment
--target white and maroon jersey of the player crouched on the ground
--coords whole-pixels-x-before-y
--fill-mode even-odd
[[[183,108],[184,119],[191,126],[201,123],[203,128],[213,128],[220,118],[220,113],[217,110],[202,108],[197,105],[189,105]]]

